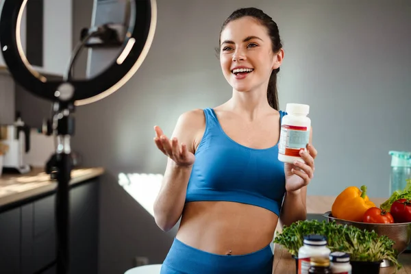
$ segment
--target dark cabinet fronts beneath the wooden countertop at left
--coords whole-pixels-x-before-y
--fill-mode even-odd
[[[70,190],[70,273],[97,274],[98,192],[98,179]],[[0,213],[0,273],[33,274],[55,261],[54,210],[51,193]]]

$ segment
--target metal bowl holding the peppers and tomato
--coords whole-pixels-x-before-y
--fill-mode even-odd
[[[327,221],[336,221],[336,223],[342,225],[353,225],[360,229],[366,229],[368,231],[374,230],[379,236],[387,236],[395,242],[393,249],[399,254],[403,253],[408,247],[411,240],[411,223],[362,223],[353,222],[343,219],[338,219],[332,216],[331,211],[323,214]]]

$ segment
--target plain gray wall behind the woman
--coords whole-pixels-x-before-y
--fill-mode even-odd
[[[74,37],[90,22],[87,2],[74,1]],[[161,232],[116,176],[163,173],[166,158],[153,144],[153,125],[171,134],[182,112],[229,99],[231,88],[214,47],[224,19],[249,5],[158,0],[158,29],[136,75],[110,97],[78,108],[73,145],[85,164],[107,169],[101,183],[100,273],[123,273],[134,256],[155,263],[166,255],[174,232]],[[411,151],[411,2],[261,0],[252,5],[273,16],[284,40],[281,108],[288,102],[311,106],[319,157],[308,195],[337,195],[347,186],[366,184],[371,197],[386,197],[388,151]],[[33,101],[23,102],[21,95],[17,105],[27,110]],[[27,112],[23,118],[34,116]]]

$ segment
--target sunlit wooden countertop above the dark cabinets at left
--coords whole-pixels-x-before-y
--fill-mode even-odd
[[[103,173],[102,168],[73,169],[70,185],[79,184]],[[3,173],[0,177],[0,207],[53,192],[56,188],[57,181],[51,180],[50,175],[41,168],[34,168],[26,174]]]

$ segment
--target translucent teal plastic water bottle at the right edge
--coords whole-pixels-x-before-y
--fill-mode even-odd
[[[390,151],[391,158],[391,177],[390,195],[395,190],[403,190],[406,187],[407,179],[411,179],[411,152]]]

